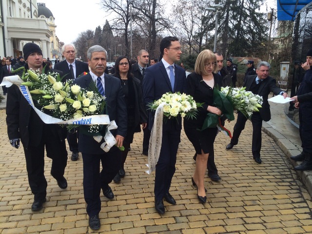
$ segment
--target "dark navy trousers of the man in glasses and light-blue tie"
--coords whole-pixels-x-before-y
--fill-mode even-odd
[[[175,125],[172,121],[170,123]],[[155,174],[154,194],[156,200],[161,200],[166,193],[169,193],[171,180],[176,172],[176,153],[180,142],[180,135],[181,130],[174,128],[163,129],[161,150],[156,164]]]

